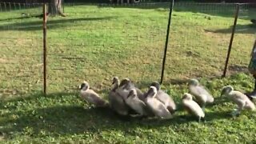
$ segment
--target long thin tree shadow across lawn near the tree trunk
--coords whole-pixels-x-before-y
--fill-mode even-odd
[[[66,26],[79,25],[78,22],[86,21],[104,21],[114,17],[99,17],[99,18],[62,18],[62,19],[49,19],[47,21],[48,29],[58,29]],[[34,22],[13,22],[0,26],[1,31],[5,30],[42,30],[42,20]]]

